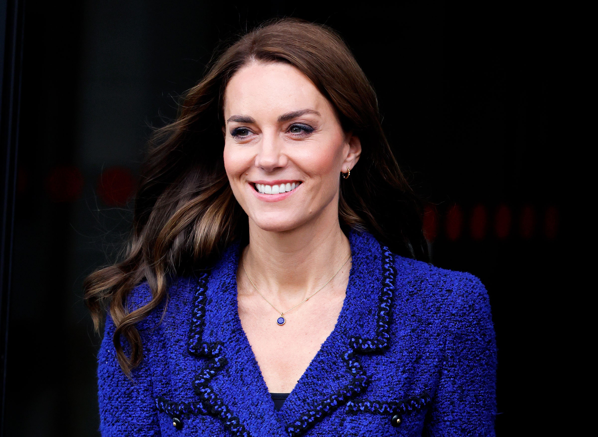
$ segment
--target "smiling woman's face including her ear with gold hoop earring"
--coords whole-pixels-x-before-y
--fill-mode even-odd
[[[361,153],[331,103],[297,68],[252,62],[224,94],[224,166],[234,196],[265,231],[338,216],[340,173]]]

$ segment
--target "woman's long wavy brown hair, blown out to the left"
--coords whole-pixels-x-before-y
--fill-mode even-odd
[[[106,309],[110,311],[112,340],[126,374],[143,356],[135,325],[167,298],[169,279],[206,268],[233,240],[248,236],[247,215],[224,170],[222,103],[230,78],[253,61],[297,68],[332,103],[343,129],[361,140],[361,159],[340,188],[343,230],[368,231],[395,253],[427,258],[418,198],[390,151],[376,93],[347,45],[326,26],[295,19],[266,23],[217,57],[181,99],[175,121],[154,132],[142,165],[126,255],[84,283],[97,331]],[[130,310],[127,296],[143,281],[152,299]],[[130,345],[129,356],[123,337]]]

